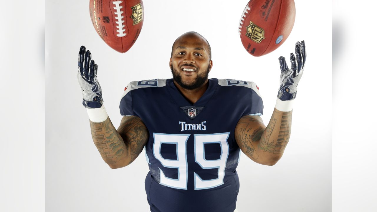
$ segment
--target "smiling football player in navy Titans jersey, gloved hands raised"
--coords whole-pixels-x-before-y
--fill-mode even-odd
[[[77,77],[94,144],[112,169],[129,165],[145,149],[151,212],[233,212],[240,151],[272,166],[287,146],[306,60],[304,41],[296,43],[295,53],[290,55],[290,69],[285,58],[279,58],[280,88],[266,127],[257,85],[208,79],[211,47],[200,34],[187,32],[172,46],[172,79],[127,85],[120,101],[123,118],[116,129],[103,105],[98,66],[81,46]]]

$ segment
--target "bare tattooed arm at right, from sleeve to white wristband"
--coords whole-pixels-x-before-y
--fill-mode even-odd
[[[291,134],[292,111],[282,112],[276,108],[265,127],[257,115],[242,117],[236,126],[235,137],[238,146],[251,160],[274,165],[283,155]]]

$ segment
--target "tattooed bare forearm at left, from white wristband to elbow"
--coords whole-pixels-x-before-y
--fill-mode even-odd
[[[109,117],[101,123],[90,121],[90,128],[94,144],[107,164],[116,163],[116,161],[127,157],[127,148]]]

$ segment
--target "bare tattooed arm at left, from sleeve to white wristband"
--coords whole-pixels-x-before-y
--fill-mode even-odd
[[[149,138],[145,124],[136,116],[124,116],[118,130],[109,117],[100,123],[90,121],[90,128],[94,144],[112,169],[132,163]]]

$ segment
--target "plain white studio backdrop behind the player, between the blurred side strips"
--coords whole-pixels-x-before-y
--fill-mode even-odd
[[[187,31],[199,32],[211,45],[210,78],[258,84],[265,124],[279,88],[278,58],[288,58],[296,41],[305,40],[307,65],[294,104],[290,142],[274,166],[242,155],[237,207],[239,212],[331,211],[332,11],[331,5],[322,6],[326,3],[296,0],[290,37],[274,52],[253,57],[243,48],[237,31],[247,1],[145,0],[143,29],[124,54],[107,46],[95,32],[89,0],[46,2],[46,211],[149,211],[144,152],[129,166],[113,170],[93,144],[76,78],[78,51],[84,45],[92,52],[104,105],[117,128],[124,87],[134,80],[171,78],[173,41]]]

